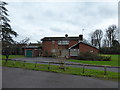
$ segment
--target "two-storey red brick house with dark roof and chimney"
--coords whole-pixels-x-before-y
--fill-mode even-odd
[[[42,39],[42,56],[75,57],[81,52],[98,53],[99,50],[83,42],[83,35],[79,37],[44,37]]]

